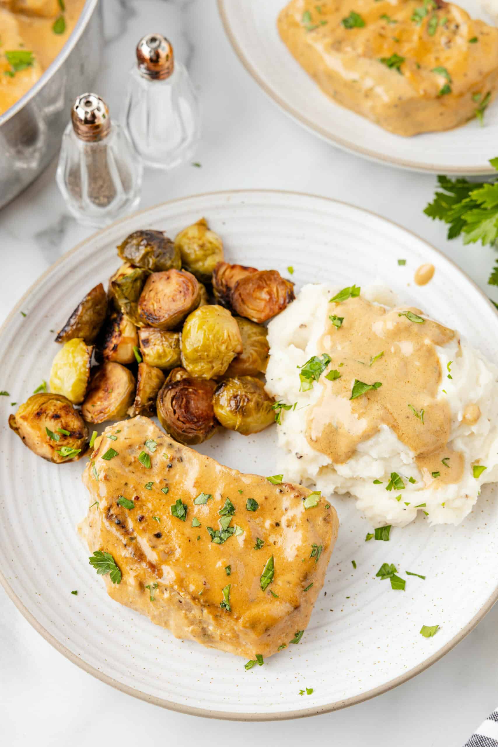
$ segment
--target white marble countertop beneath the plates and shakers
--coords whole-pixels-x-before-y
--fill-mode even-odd
[[[234,0],[235,1],[235,0]],[[244,1],[244,0],[238,0]],[[250,0],[245,0],[250,1]],[[435,177],[382,167],[332,148],[287,119],[240,65],[215,0],[104,0],[107,44],[94,86],[116,113],[143,34],[158,29],[175,45],[199,90],[204,112],[196,160],[169,176],[146,172],[140,208],[216,190],[273,188],[316,193],[375,211],[454,259],[488,295],[496,254],[446,241],[423,215]],[[498,153],[498,145],[497,145]],[[497,155],[491,153],[490,157]],[[63,252],[90,235],[66,212],[55,164],[0,211],[0,320]],[[465,300],[462,299],[462,303]],[[6,745],[93,743],[217,745],[223,734],[254,744],[460,747],[498,702],[498,607],[440,662],[417,678],[355,707],[293,722],[214,723],[171,713],[108,687],[73,666],[31,628],[0,592],[0,723]]]

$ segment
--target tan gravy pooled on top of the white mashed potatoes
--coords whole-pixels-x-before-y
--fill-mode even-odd
[[[323,391],[308,415],[308,442],[342,464],[384,424],[415,453],[425,479],[458,482],[463,459],[446,445],[451,412],[438,400],[442,373],[435,347],[448,344],[455,332],[429,319],[411,321],[407,311],[422,314],[386,310],[362,297],[329,305],[343,323],[337,328],[328,320],[318,344],[318,354],[328,353],[332,362],[320,376]],[[340,378],[330,381],[325,376],[333,370]],[[355,379],[382,386],[350,400]]]

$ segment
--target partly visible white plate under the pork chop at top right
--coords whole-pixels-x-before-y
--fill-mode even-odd
[[[334,145],[373,161],[443,174],[496,173],[498,102],[477,120],[447,132],[401,137],[335,104],[294,60],[278,36],[286,0],[218,0],[225,31],[240,61],[265,93],[294,120]],[[493,19],[478,0],[458,4],[473,17]]]

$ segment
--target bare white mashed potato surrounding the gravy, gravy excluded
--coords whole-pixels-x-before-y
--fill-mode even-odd
[[[458,483],[445,484],[430,476],[428,480],[427,473],[417,466],[417,455],[385,424],[358,443],[346,462],[334,464],[310,444],[307,423],[323,394],[324,376],[335,364],[332,362],[308,391],[299,391],[298,367],[317,355],[329,314],[336,313],[329,300],[339,290],[333,285],[305,285],[296,301],[269,326],[267,391],[286,404],[296,403],[294,409],[282,410],[278,425],[284,480],[314,485],[324,495],[349,492],[374,527],[404,526],[418,511],[425,512],[431,524],[459,524],[476,503],[482,484],[498,480],[498,368],[459,341],[458,334],[443,347],[435,347],[443,372],[437,400],[448,403],[451,418],[447,445],[464,460]],[[387,288],[363,289],[361,296],[385,307],[396,306],[396,297]],[[369,373],[373,371],[371,368]],[[350,378],[348,386],[352,388],[354,376]],[[469,412],[473,417],[468,417]],[[444,473],[446,466],[443,462],[439,470]],[[402,492],[396,487],[386,489],[392,473],[401,478]],[[438,472],[432,475],[437,477]]]

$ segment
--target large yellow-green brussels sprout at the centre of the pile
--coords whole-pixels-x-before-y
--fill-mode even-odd
[[[216,379],[237,353],[242,338],[230,311],[208,305],[189,314],[181,330],[181,362],[190,376]]]

